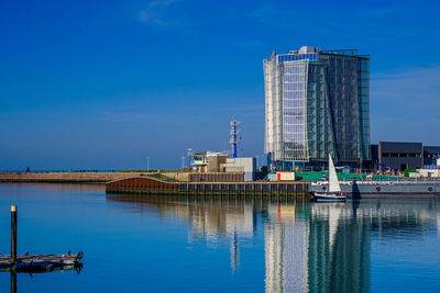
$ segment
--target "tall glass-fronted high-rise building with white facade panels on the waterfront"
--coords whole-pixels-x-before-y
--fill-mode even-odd
[[[370,154],[370,56],[304,46],[264,60],[265,153],[284,168],[362,167]]]

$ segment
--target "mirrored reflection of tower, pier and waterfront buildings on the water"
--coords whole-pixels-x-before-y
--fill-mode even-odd
[[[158,213],[190,223],[188,241],[208,244],[230,239],[231,268],[240,264],[240,243],[255,237],[264,225],[266,292],[369,292],[371,237],[387,241],[399,232],[407,237],[438,229],[439,202],[435,200],[371,200],[314,203],[306,199],[268,200],[107,195],[111,205],[130,212]],[[262,218],[263,221],[258,221]]]

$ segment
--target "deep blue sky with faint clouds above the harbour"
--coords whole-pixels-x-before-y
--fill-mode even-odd
[[[437,1],[9,1],[0,170],[177,168],[186,148],[263,154],[275,47],[371,55],[371,133],[440,145]]]

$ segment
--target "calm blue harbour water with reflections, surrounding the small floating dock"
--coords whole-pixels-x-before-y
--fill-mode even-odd
[[[440,201],[358,203],[106,195],[0,184],[0,252],[85,251],[84,269],[18,275],[18,292],[439,292]],[[0,273],[0,292],[10,274]]]

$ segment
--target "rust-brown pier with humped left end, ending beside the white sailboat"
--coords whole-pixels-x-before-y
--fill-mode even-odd
[[[202,195],[305,195],[305,181],[168,182],[148,177],[108,182],[107,193],[202,194]]]

